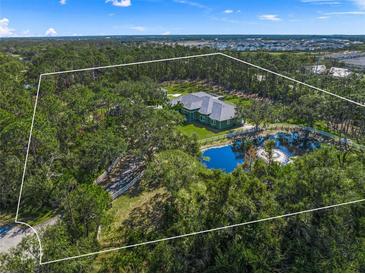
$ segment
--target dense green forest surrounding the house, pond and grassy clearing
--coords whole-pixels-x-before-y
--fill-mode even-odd
[[[41,73],[209,52],[116,40],[2,41],[0,216],[15,213]],[[313,54],[226,53],[365,102],[362,75],[310,74],[306,66],[318,62]],[[145,163],[133,195],[157,192],[133,209],[109,247],[364,197],[364,152],[348,146],[324,146],[287,166],[257,160],[232,174],[207,170],[199,161],[197,140],[176,130],[183,116],[160,88],[172,80],[204,80],[271,102],[275,107],[257,103],[242,111],[257,123],[320,124],[365,142],[365,108],[223,56],[45,76],[20,206],[23,221],[61,216],[42,231],[43,261],[104,247],[98,227],[110,222],[112,201],[94,181],[126,155]],[[38,242],[29,237],[0,255],[0,266],[29,272],[361,272],[364,226],[364,205],[356,204],[45,266],[37,264]]]

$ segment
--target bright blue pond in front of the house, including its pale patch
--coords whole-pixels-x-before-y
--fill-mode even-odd
[[[320,147],[316,140],[303,140],[298,133],[260,136],[253,143],[257,150],[257,157],[265,161],[268,161],[268,155],[263,146],[267,140],[274,140],[275,148],[272,159],[281,164],[288,164],[292,157],[303,155]],[[237,152],[232,144],[203,150],[202,156],[202,163],[208,169],[220,169],[227,173],[233,172],[237,166],[244,163],[244,153]]]

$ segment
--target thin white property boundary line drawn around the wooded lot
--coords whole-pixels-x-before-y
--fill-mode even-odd
[[[288,214],[274,216],[274,217],[268,217],[268,218],[259,219],[259,220],[255,220],[255,221],[249,221],[249,222],[245,222],[245,223],[239,223],[239,224],[228,225],[228,226],[223,226],[223,227],[218,227],[218,228],[212,228],[212,229],[208,229],[208,230],[202,230],[202,231],[192,232],[192,233],[188,233],[188,234],[182,234],[182,235],[178,235],[178,236],[174,236],[174,237],[168,237],[168,238],[163,238],[163,239],[154,240],[154,241],[147,241],[147,242],[143,242],[143,243],[139,243],[139,244],[134,244],[134,245],[127,245],[127,246],[119,247],[119,248],[112,248],[112,249],[107,249],[107,250],[103,250],[103,251],[87,253],[87,254],[83,254],[83,255],[79,255],[79,256],[73,256],[73,257],[67,257],[67,258],[58,259],[58,260],[52,260],[52,261],[42,262],[43,249],[42,249],[42,243],[41,243],[41,240],[40,240],[40,237],[39,237],[38,232],[31,225],[29,225],[29,224],[27,224],[25,222],[18,221],[20,201],[21,201],[21,196],[22,196],[22,192],[23,192],[23,185],[24,185],[24,179],[25,179],[25,174],[26,174],[26,169],[27,169],[27,162],[28,162],[30,144],[31,144],[31,140],[32,140],[32,133],[33,133],[35,115],[36,115],[36,111],[37,111],[38,97],[39,97],[39,92],[40,92],[40,86],[41,86],[41,82],[42,82],[42,77],[43,76],[49,76],[49,75],[59,75],[59,74],[66,74],[66,73],[73,73],[73,72],[83,72],[83,71],[100,70],[100,69],[107,69],[107,68],[127,67],[127,66],[133,66],[133,65],[151,64],[151,63],[161,63],[161,62],[176,61],[176,60],[183,60],[183,59],[192,59],[192,58],[199,58],[199,57],[208,57],[208,56],[223,56],[223,57],[232,59],[234,61],[237,61],[237,62],[246,64],[248,66],[257,68],[259,70],[262,70],[262,71],[265,71],[265,72],[274,74],[276,76],[282,77],[284,79],[293,81],[295,83],[304,85],[306,87],[309,87],[311,89],[320,91],[320,92],[325,93],[327,95],[336,97],[336,98],[341,99],[343,101],[347,101],[349,103],[358,105],[360,107],[365,107],[365,104],[363,104],[363,103],[356,102],[356,101],[351,100],[349,98],[346,98],[346,97],[337,95],[335,93],[332,93],[332,92],[329,92],[329,91],[326,91],[326,90],[317,88],[315,86],[312,86],[312,85],[306,84],[304,82],[298,81],[298,80],[296,80],[294,78],[291,78],[291,77],[288,77],[288,76],[279,74],[277,72],[268,70],[266,68],[263,68],[263,67],[260,67],[260,66],[254,65],[254,64],[251,64],[249,62],[243,61],[241,59],[238,59],[236,57],[233,57],[233,56],[230,56],[230,55],[221,53],[221,52],[207,53],[207,54],[199,54],[199,55],[190,55],[190,56],[183,56],[183,57],[173,57],[173,58],[166,58],[166,59],[157,59],[157,60],[150,60],[150,61],[141,61],[141,62],[126,63],[126,64],[109,65],[109,66],[91,67],[91,68],[84,68],[84,69],[74,69],[74,70],[65,70],[65,71],[42,73],[42,74],[40,74],[39,81],[38,81],[38,87],[37,87],[36,99],[35,99],[35,103],[34,103],[34,110],[33,110],[32,122],[31,122],[30,131],[29,131],[28,146],[27,146],[27,151],[26,151],[26,156],[25,156],[25,162],[24,162],[24,168],[23,168],[22,181],[21,181],[21,186],[20,186],[20,193],[19,193],[19,198],[18,198],[18,206],[17,206],[17,210],[16,210],[16,215],[15,215],[15,223],[28,226],[36,234],[37,240],[39,242],[39,251],[40,251],[40,253],[39,253],[40,254],[39,255],[39,264],[40,265],[51,264],[51,263],[56,263],[56,262],[61,262],[61,261],[66,261],[66,260],[72,260],[72,259],[77,259],[77,258],[82,258],[82,257],[88,257],[88,256],[93,256],[93,255],[96,255],[96,254],[100,254],[100,253],[106,253],[106,252],[111,252],[111,251],[116,251],[116,250],[121,250],[121,249],[127,249],[127,248],[142,246],[142,245],[149,245],[149,244],[153,244],[153,243],[158,243],[158,242],[163,242],[163,241],[169,241],[169,240],[179,239],[179,238],[183,238],[183,237],[189,237],[189,236],[204,234],[204,233],[208,233],[208,232],[220,231],[220,230],[223,230],[223,229],[229,229],[229,228],[234,228],[234,227],[239,227],[239,226],[244,226],[244,225],[249,225],[249,224],[255,224],[255,223],[260,223],[260,222],[275,220],[275,219],[279,219],[279,218],[287,218],[287,217],[291,217],[291,216],[295,216],[295,215],[299,215],[299,214],[303,214],[303,213],[310,213],[310,212],[319,211],[319,210],[331,209],[331,208],[335,208],[335,207],[340,207],[340,206],[345,206],[345,205],[350,205],[350,204],[355,204],[355,203],[361,203],[361,202],[364,202],[365,201],[365,199],[355,200],[355,201],[350,201],[350,202],[345,202],[345,203],[340,203],[340,204],[335,204],[335,205],[329,205],[329,206],[324,206],[324,207],[319,207],[319,208],[314,208],[314,209],[309,209],[309,210],[303,210],[303,211],[288,213]]]

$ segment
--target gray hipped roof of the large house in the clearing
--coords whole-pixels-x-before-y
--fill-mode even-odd
[[[206,92],[195,92],[180,96],[171,101],[171,104],[182,104],[185,109],[196,110],[200,114],[207,115],[212,120],[225,121],[236,116],[236,108],[217,97]]]

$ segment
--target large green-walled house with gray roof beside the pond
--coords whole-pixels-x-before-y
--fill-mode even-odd
[[[180,96],[171,101],[173,106],[185,115],[187,122],[199,122],[215,129],[229,129],[237,126],[236,107],[227,104],[206,92],[196,92]]]

